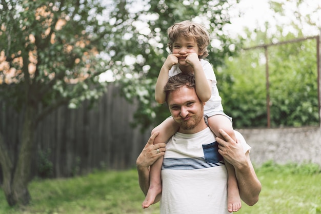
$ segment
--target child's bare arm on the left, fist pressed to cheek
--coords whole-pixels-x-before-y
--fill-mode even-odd
[[[178,56],[179,54],[168,55],[164,65],[162,68],[160,68],[155,86],[155,100],[159,104],[165,103],[166,94],[164,93],[164,86],[168,81],[169,70],[173,67],[173,65],[178,63]]]

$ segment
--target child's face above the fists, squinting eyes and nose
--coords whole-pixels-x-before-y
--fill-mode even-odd
[[[185,55],[188,53],[197,53],[197,55],[203,55],[198,50],[196,40],[194,38],[187,38],[185,36],[180,36],[173,43],[173,53],[178,53],[180,55]]]

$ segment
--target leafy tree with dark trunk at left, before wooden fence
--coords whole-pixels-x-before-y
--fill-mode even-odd
[[[110,25],[96,1],[0,1],[0,99],[24,112],[15,157],[0,133],[3,189],[10,206],[30,201],[27,188],[34,133],[49,112],[94,101],[105,90],[99,55]]]

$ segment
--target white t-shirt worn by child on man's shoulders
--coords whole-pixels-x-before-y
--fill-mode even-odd
[[[220,98],[218,94],[216,77],[212,65],[208,61],[203,59],[200,60],[200,64],[202,64],[206,79],[212,81],[212,95],[204,106],[204,114],[208,114],[212,111],[223,111],[222,98]],[[182,73],[182,70],[179,69],[177,64],[169,70],[168,76],[171,77],[178,73]]]

